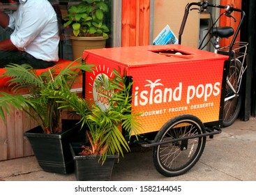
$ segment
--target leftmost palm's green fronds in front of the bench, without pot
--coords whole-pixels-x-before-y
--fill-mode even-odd
[[[8,65],[1,77],[8,77],[12,93],[0,93],[0,116],[6,120],[13,109],[26,112],[36,120],[45,134],[61,131],[61,103],[54,98],[43,96],[45,90],[70,91],[80,70],[90,71],[92,65],[70,63],[60,71],[57,68],[36,74],[30,65]],[[58,73],[57,73],[58,72]],[[21,95],[26,90],[27,95]]]

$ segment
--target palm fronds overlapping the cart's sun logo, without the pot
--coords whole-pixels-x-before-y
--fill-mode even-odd
[[[49,89],[43,95],[57,100],[61,107],[68,109],[72,114],[80,116],[80,123],[89,130],[86,132],[89,146],[84,145],[81,155],[100,155],[103,162],[107,155],[123,155],[123,149],[129,151],[127,140],[123,132],[137,135],[142,129],[137,116],[132,114],[130,89],[132,83],[126,84],[126,77],[121,77],[114,70],[112,79],[99,77],[96,86],[112,91],[112,95],[103,95],[110,107],[100,109],[97,104],[90,104],[70,91],[54,91]],[[122,130],[123,132],[122,132]]]

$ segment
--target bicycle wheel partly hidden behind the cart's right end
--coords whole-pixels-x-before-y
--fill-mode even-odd
[[[234,61],[231,61],[229,66],[228,79],[235,92],[229,87],[228,84],[226,84],[223,109],[224,127],[228,127],[234,123],[234,120],[236,120],[236,118],[239,116],[241,109],[241,90],[239,91],[239,73],[241,70],[241,65],[241,62],[236,59],[236,64]]]

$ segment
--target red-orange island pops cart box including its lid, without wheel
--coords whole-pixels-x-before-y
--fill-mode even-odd
[[[100,74],[113,76],[113,69],[133,77],[133,113],[140,116],[144,133],[160,130],[174,116],[192,114],[203,123],[219,123],[223,98],[223,70],[227,56],[183,45],[116,47],[84,51],[86,63],[96,64],[86,72],[85,97],[105,104],[93,91]]]

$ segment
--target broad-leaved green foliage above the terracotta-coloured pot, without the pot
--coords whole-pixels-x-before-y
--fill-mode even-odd
[[[104,0],[82,0],[76,6],[68,9],[64,17],[67,22],[64,27],[71,25],[74,36],[103,36],[108,38],[109,28],[104,24],[104,14],[108,6]]]

